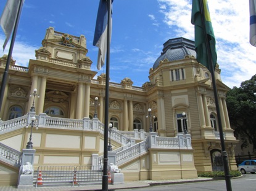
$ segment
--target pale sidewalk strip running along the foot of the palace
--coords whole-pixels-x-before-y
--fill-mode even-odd
[[[185,182],[200,182],[200,181],[212,181],[212,178],[207,177],[198,177],[196,179],[178,179],[178,180],[165,180],[165,181],[133,181],[125,182],[124,184],[109,184],[109,190],[118,190],[118,189],[136,189],[140,187],[149,187],[151,185],[163,185],[163,184],[179,184]],[[37,187],[32,189],[17,189],[14,186],[0,186],[0,191],[52,191],[52,190],[64,190],[64,191],[76,191],[76,190],[101,190],[102,185],[77,185],[75,187]]]

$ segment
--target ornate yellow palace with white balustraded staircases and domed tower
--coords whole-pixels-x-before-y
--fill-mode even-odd
[[[11,156],[19,156],[26,148],[31,129],[25,127],[31,116],[38,127],[32,138],[35,170],[42,165],[102,164],[105,74],[91,70],[83,35],[50,27],[42,45],[28,68],[10,61],[0,112],[2,184],[15,184],[19,160],[16,165],[7,161],[6,153],[13,149]],[[6,59],[0,58],[1,79]],[[237,141],[225,101],[229,88],[221,82],[218,64],[215,78],[229,169],[237,170]],[[194,42],[183,37],[168,40],[149,69],[149,82],[134,87],[133,80],[124,76],[120,84],[109,84],[113,160],[125,181],[190,178],[222,170],[212,79],[196,60]]]

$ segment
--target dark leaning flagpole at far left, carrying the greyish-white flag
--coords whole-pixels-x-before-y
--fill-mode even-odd
[[[20,15],[22,12],[23,1],[24,0],[20,0],[20,5],[19,5],[18,12],[17,12],[15,25],[14,25],[14,31],[12,33],[12,40],[10,41],[10,48],[9,48],[9,53],[8,53],[7,61],[6,61],[6,69],[4,70],[4,74],[2,76],[2,84],[1,84],[1,89],[0,89],[0,111],[2,109],[2,99],[4,98],[4,90],[6,88],[6,83],[7,83],[7,77],[8,77],[9,66],[10,66],[10,58],[12,57],[12,50],[14,49],[14,42],[15,42],[18,25],[19,25]]]

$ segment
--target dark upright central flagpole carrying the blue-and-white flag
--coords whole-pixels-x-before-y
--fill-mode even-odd
[[[108,150],[107,140],[109,132],[109,64],[110,64],[110,20],[111,20],[111,3],[112,0],[107,0],[107,61],[106,61],[106,80],[105,80],[105,117],[104,117],[104,161],[103,161],[103,176],[102,176],[102,191],[109,190],[108,188],[108,174],[107,174],[107,163],[108,163]]]

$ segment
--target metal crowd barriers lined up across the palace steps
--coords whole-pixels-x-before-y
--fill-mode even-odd
[[[38,185],[70,185],[97,183],[102,181],[103,166],[38,166]]]

